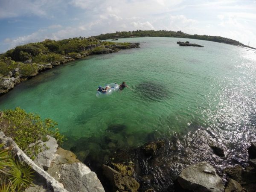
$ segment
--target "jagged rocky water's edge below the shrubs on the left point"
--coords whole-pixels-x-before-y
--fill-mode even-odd
[[[12,71],[9,72],[9,75],[6,77],[0,76],[0,95],[3,95],[10,90],[12,90],[15,85],[20,84],[22,81],[26,81],[27,79],[31,79],[34,76],[37,76],[39,73],[42,73],[46,70],[52,69],[61,64],[65,64],[69,61],[74,61],[76,59],[84,58],[88,55],[96,55],[96,54],[107,54],[112,52],[118,52],[120,49],[131,49],[131,48],[139,48],[139,43],[129,43],[129,44],[111,44],[102,46],[101,44],[92,44],[84,47],[84,53],[76,54],[73,57],[63,55],[63,59],[61,61],[53,61],[46,64],[38,64],[34,63],[33,60],[24,61],[24,64],[35,65],[37,71],[35,73],[30,74],[29,76],[23,75],[20,68],[16,67]]]

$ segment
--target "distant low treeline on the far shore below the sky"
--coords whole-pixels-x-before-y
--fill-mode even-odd
[[[113,38],[134,38],[134,37],[176,37],[176,38],[190,38],[190,39],[200,39],[200,40],[206,40],[206,41],[214,41],[218,43],[224,43],[224,44],[231,44],[231,45],[239,45],[243,47],[249,47],[252,49],[256,49],[247,45],[244,45],[240,43],[239,41],[224,38],[220,36],[211,36],[211,35],[189,35],[182,31],[166,31],[166,30],[160,30],[160,31],[143,31],[143,30],[137,30],[137,31],[122,31],[122,32],[116,32],[116,33],[107,33],[107,34],[100,34],[97,36],[94,36],[97,39],[104,40],[104,39],[113,39]]]

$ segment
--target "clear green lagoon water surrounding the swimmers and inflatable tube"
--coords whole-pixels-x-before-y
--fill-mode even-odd
[[[256,125],[256,54],[210,41],[130,38],[140,48],[94,55],[55,67],[0,97],[58,122],[64,147],[84,159],[107,160],[118,148],[205,128],[220,140],[250,137]],[[201,47],[181,47],[190,41]],[[96,97],[99,85],[131,89]]]

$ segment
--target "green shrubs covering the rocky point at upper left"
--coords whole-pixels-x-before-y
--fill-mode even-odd
[[[129,43],[113,43],[99,41],[96,38],[70,38],[61,41],[46,39],[38,43],[30,43],[20,45],[0,54],[0,77],[10,77],[9,72],[15,68],[18,71],[13,74],[13,77],[20,76],[26,79],[30,76],[35,76],[39,70],[52,68],[48,65],[54,62],[63,64],[73,59],[84,57],[85,55],[97,54],[104,46],[119,45],[119,48],[129,48]],[[113,48],[114,49],[114,48]],[[95,50],[95,51],[94,51]],[[56,64],[53,64],[55,66]],[[45,67],[49,66],[49,67]]]

